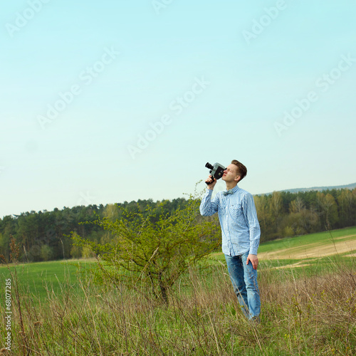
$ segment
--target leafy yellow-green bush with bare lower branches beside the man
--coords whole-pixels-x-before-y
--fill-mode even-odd
[[[130,288],[143,286],[167,303],[177,278],[219,246],[218,225],[201,219],[199,199],[191,197],[172,213],[164,211],[164,204],[138,206],[135,212],[120,207],[122,219],[94,221],[115,236],[108,244],[72,234],[75,244],[90,247],[100,256],[93,271],[99,280],[120,281]]]

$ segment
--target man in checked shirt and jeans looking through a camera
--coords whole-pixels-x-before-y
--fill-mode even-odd
[[[226,183],[226,191],[218,192],[211,200],[216,179],[206,179],[208,187],[201,200],[200,214],[219,214],[224,252],[231,282],[249,320],[259,322],[261,300],[257,283],[257,249],[261,230],[258,224],[253,197],[237,186],[247,174],[247,169],[234,159],[221,177]]]

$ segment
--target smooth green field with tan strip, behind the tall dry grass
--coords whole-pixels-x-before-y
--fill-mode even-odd
[[[266,268],[315,267],[320,272],[334,268],[333,263],[343,261],[352,265],[356,253],[356,227],[325,231],[263,243],[258,248],[259,270]],[[224,254],[212,253],[209,263],[225,263]],[[76,283],[78,266],[88,266],[93,259],[23,263],[17,267],[19,281],[29,286],[36,298],[43,298],[47,290],[61,290],[61,283]],[[8,278],[9,270],[0,265],[0,276]]]

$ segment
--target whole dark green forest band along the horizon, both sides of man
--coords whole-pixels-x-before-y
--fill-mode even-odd
[[[273,192],[256,195],[254,199],[261,225],[261,242],[356,225],[356,189]],[[71,232],[96,244],[106,244],[112,241],[113,236],[110,231],[93,224],[94,221],[104,218],[120,220],[123,209],[135,216],[138,211],[145,211],[147,206],[159,206],[169,216],[177,209],[184,209],[187,202],[184,198],[164,201],[164,204],[162,201],[139,199],[105,206],[65,206],[61,210],[4,216],[0,219],[0,255],[9,260],[9,244],[13,236],[21,246],[19,260],[23,262],[90,256],[88,248],[73,244]],[[210,219],[219,225],[217,214],[209,218],[199,216],[198,219]]]

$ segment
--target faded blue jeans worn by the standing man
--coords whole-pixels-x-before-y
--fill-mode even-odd
[[[241,256],[225,255],[227,268],[237,299],[246,318],[258,317],[261,311],[260,292],[257,284],[257,271],[251,261],[246,265],[248,253]]]

